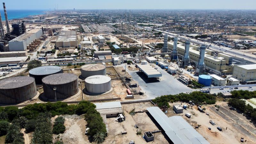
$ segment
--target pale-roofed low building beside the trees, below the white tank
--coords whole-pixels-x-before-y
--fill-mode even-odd
[[[120,101],[93,103],[100,115],[123,113]]]

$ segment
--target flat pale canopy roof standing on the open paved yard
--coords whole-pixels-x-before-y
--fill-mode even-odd
[[[140,68],[142,72],[144,72],[144,74],[148,76],[148,78],[162,76],[162,74],[159,71],[157,71],[155,68],[151,67],[150,65],[137,65],[137,66],[138,68]]]

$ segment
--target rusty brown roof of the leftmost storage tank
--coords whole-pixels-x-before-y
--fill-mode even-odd
[[[30,76],[16,76],[0,80],[0,89],[14,89],[26,86],[35,81],[33,77]]]

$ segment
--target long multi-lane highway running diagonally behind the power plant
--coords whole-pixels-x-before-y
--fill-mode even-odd
[[[145,27],[141,27],[141,26],[138,26],[138,25],[136,25],[136,27],[145,28]],[[152,30],[153,28],[145,28],[145,29]],[[154,29],[154,30],[159,31],[159,32],[163,32],[162,30],[158,30],[158,29]],[[189,37],[186,37],[186,36],[181,36],[179,34],[174,34],[174,33],[166,32],[166,31],[164,31],[163,34],[167,34],[169,37],[178,37],[179,40],[184,40],[184,41],[185,40],[190,40],[190,42],[194,43],[194,44],[199,44],[199,45],[205,44],[206,47],[208,47],[211,44],[209,42],[199,41],[199,40],[196,40],[196,39],[193,39],[193,38],[189,38]],[[241,58],[241,59],[256,63],[256,56],[253,55],[253,54],[250,54],[250,53],[244,53],[244,52],[236,51],[234,49],[230,50],[231,48],[224,47],[224,46],[217,46],[215,44],[212,44],[209,47],[209,49],[213,50],[215,52],[222,52],[224,54],[228,54],[230,56],[233,56],[234,58],[237,57],[237,58]]]

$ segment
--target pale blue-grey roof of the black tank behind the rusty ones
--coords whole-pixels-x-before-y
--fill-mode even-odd
[[[50,75],[61,71],[59,66],[42,66],[30,69],[28,72],[32,75]]]

